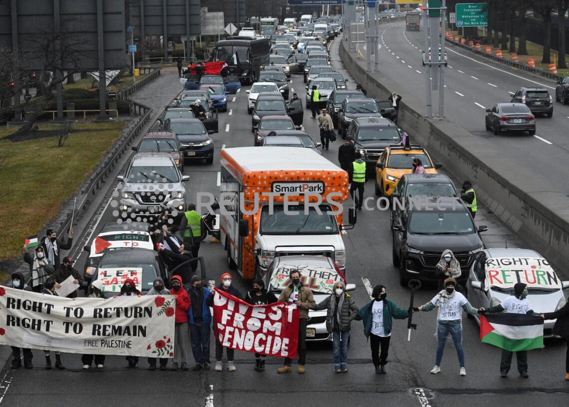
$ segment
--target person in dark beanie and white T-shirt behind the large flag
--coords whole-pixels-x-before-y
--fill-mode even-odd
[[[516,283],[514,285],[514,293],[507,297],[500,304],[490,307],[488,309],[480,308],[479,314],[486,313],[501,313],[506,311],[510,314],[530,314],[539,315],[531,310],[530,302],[527,301],[527,284]],[[507,377],[512,365],[512,355],[514,352],[502,349],[502,359],[500,361],[500,377]],[[527,351],[516,352],[516,360],[518,362],[518,372],[522,377],[527,378]]]

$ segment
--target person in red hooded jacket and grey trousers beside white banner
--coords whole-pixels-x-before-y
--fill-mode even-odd
[[[182,277],[172,276],[170,279],[172,289],[170,294],[176,295],[176,326],[174,334],[174,364],[172,370],[178,370],[178,365],[182,370],[188,370],[188,310],[189,295],[182,285]]]

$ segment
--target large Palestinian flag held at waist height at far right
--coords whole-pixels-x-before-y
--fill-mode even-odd
[[[543,318],[511,313],[480,315],[480,341],[510,352],[543,348]]]

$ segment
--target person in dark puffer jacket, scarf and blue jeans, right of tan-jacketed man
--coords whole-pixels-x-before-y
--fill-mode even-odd
[[[352,296],[346,293],[344,283],[338,281],[334,291],[324,301],[311,306],[312,310],[327,310],[326,330],[332,334],[332,351],[334,371],[336,373],[348,372],[348,341],[352,320],[356,318],[360,309]]]

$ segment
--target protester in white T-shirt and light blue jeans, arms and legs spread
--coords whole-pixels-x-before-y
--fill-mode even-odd
[[[420,307],[414,307],[413,311],[431,311],[439,307],[437,318],[436,336],[438,344],[436,346],[435,367],[431,369],[432,374],[440,372],[440,362],[443,360],[444,344],[450,333],[452,341],[455,343],[456,355],[459,358],[460,376],[466,376],[464,365],[464,349],[462,346],[462,315],[461,309],[469,314],[477,314],[474,308],[464,295],[455,291],[457,284],[454,278],[447,278],[444,281],[444,290],[435,295],[431,301]]]

